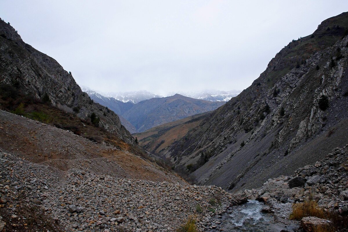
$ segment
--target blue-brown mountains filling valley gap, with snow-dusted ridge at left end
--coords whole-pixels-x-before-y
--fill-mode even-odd
[[[194,114],[215,110],[225,102],[211,102],[185,97],[180,94],[150,98],[134,104],[106,97],[94,90],[84,89],[95,102],[108,107],[119,115],[121,123],[130,133],[145,131],[163,123],[179,120]]]

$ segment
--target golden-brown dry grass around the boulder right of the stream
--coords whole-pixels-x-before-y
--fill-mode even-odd
[[[333,231],[347,231],[348,216],[340,215],[335,211],[324,211],[318,208],[316,201],[306,201],[303,203],[295,203],[292,206],[292,214],[290,219],[301,220],[303,217],[318,217],[331,221],[329,226],[317,226],[316,232],[333,232]]]

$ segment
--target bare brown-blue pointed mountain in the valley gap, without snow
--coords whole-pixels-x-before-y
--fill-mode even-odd
[[[167,122],[215,110],[223,104],[225,103],[208,102],[175,94],[139,102],[122,114],[122,117],[141,132]]]

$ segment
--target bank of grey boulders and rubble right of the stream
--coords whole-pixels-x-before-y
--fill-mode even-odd
[[[319,208],[347,215],[348,144],[335,148],[315,165],[299,168],[292,176],[268,179],[260,189],[245,190],[242,194],[278,204],[315,200]],[[288,205],[290,214],[291,204]]]

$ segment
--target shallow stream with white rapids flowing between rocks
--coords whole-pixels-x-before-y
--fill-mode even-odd
[[[216,215],[214,220],[217,226],[214,231],[231,231],[231,232],[280,232],[296,231],[296,223],[286,220],[286,222],[277,222],[273,213],[263,213],[261,210],[264,204],[258,201],[249,200],[242,205],[229,208],[226,214]]]

